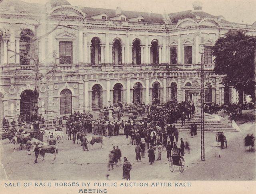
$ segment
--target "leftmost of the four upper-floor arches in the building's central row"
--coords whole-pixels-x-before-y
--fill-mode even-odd
[[[101,47],[100,47],[100,39],[98,37],[94,37],[92,39],[91,64],[92,65],[101,64]]]

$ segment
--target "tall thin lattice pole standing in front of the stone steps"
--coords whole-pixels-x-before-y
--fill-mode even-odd
[[[199,45],[201,54],[201,161],[204,161],[204,48],[205,45]]]

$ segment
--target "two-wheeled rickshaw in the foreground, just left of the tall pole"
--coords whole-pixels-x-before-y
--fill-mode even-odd
[[[172,149],[172,156],[170,157],[169,160],[169,169],[171,172],[174,171],[175,165],[179,167],[180,172],[184,171],[185,161],[177,147],[174,147]]]

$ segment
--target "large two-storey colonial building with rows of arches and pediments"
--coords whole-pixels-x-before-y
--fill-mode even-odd
[[[255,24],[212,16],[200,2],[189,11],[153,14],[76,7],[67,0],[0,0],[1,120],[32,112],[36,73],[45,119],[119,102],[196,101],[201,44],[205,102],[236,103],[238,91],[224,88],[211,55],[230,29],[256,35]]]

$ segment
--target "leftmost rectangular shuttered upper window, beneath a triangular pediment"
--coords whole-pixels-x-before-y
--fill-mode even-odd
[[[60,64],[73,64],[72,42],[60,41]]]

